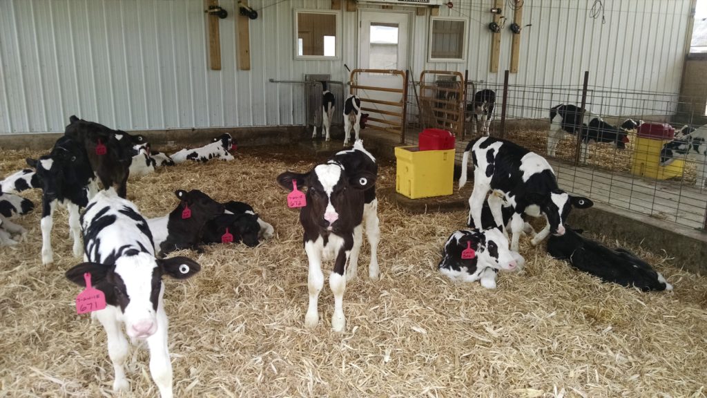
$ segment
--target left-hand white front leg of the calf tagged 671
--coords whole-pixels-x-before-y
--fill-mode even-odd
[[[125,377],[125,360],[128,357],[128,341],[120,329],[118,317],[120,312],[117,307],[109,305],[105,309],[95,312],[100,324],[105,329],[105,336],[108,341],[108,356],[113,363],[113,371],[115,372],[115,380],[113,381],[113,390],[122,391],[130,388],[130,383]]]

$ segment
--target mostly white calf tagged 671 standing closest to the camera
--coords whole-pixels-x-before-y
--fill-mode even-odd
[[[81,217],[86,246],[84,263],[66,271],[66,278],[85,286],[83,275],[103,291],[107,306],[93,315],[103,325],[108,356],[113,364],[113,390],[128,390],[124,366],[128,341],[146,340],[150,373],[163,398],[172,397],[172,364],[168,348],[168,319],[163,295],[164,275],[185,279],[199,272],[198,263],[186,257],[155,258],[147,222],[135,205],[119,198],[112,188],[90,201]]]

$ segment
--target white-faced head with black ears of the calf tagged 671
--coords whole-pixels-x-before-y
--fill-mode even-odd
[[[103,291],[108,305],[120,308],[128,336],[146,339],[157,331],[156,312],[164,292],[163,275],[186,279],[201,270],[199,263],[186,257],[158,259],[144,252],[128,252],[115,264],[81,263],[66,271],[66,278],[86,286],[84,273],[90,273],[91,285]]]

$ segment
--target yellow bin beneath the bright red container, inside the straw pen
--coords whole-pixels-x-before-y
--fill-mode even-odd
[[[452,195],[454,149],[421,151],[396,147],[395,191],[411,199]]]

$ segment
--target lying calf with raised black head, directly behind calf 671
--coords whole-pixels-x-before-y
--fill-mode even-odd
[[[223,205],[197,189],[179,189],[175,195],[180,200],[175,210],[147,220],[160,257],[180,249],[199,251],[206,222],[223,215]]]

